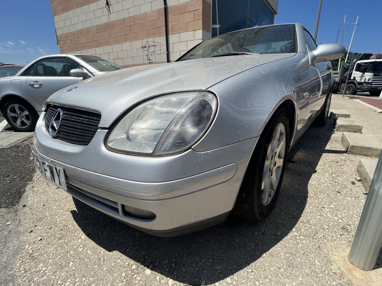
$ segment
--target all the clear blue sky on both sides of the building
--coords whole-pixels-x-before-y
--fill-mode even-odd
[[[113,1],[113,0],[112,0]],[[243,0],[241,0],[243,1]],[[360,4],[363,3],[363,4]],[[0,62],[26,64],[40,56],[60,53],[49,0],[2,1]],[[319,0],[279,0],[275,23],[300,22],[313,35]],[[381,0],[322,0],[317,43],[341,43],[343,18],[354,23],[359,15],[351,51],[382,51]],[[354,24],[345,25],[343,45],[349,48]]]

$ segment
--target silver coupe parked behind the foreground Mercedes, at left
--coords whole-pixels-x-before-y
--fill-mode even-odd
[[[33,131],[45,100],[77,82],[123,69],[89,55],[49,55],[35,59],[15,76],[0,78],[0,112],[17,131]]]

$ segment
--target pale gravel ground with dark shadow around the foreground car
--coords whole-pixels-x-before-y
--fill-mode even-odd
[[[382,114],[342,97],[332,108],[350,111],[365,133],[382,135]],[[0,284],[356,285],[329,254],[350,246],[366,199],[354,180],[361,156],[345,153],[341,135],[331,120],[308,129],[289,154],[264,222],[231,215],[174,238],[110,219],[36,172],[19,202],[26,207],[0,212]]]

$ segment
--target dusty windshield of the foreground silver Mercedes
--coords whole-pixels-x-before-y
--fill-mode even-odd
[[[256,27],[219,35],[204,41],[180,60],[241,53],[296,53],[295,25]]]

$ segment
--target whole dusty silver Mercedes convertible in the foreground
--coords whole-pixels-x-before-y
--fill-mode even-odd
[[[264,220],[286,156],[324,125],[339,44],[301,24],[206,40],[168,64],[92,77],[45,102],[32,155],[42,175],[89,206],[159,236]]]

